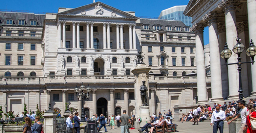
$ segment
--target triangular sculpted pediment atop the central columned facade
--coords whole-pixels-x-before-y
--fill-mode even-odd
[[[89,5],[70,9],[58,13],[59,15],[77,15],[77,16],[93,16],[93,17],[113,17],[113,18],[136,18],[134,15],[123,12],[101,2],[91,3]]]

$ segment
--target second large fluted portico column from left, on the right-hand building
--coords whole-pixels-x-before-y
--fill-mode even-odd
[[[221,101],[222,97],[222,84],[221,84],[221,62],[219,55],[219,41],[218,41],[218,24],[217,12],[208,12],[204,18],[209,27],[209,43],[210,43],[210,70],[211,72],[211,85],[212,85],[212,100]]]

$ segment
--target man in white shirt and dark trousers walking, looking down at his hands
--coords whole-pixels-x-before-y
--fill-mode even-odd
[[[224,128],[224,122],[223,120],[226,119],[225,112],[220,110],[221,108],[219,106],[215,107],[215,111],[212,112],[212,118],[211,118],[211,124],[213,125],[213,132],[212,133],[217,133],[218,129],[220,133],[223,133],[223,128]]]

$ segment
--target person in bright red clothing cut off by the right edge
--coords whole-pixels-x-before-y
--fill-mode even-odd
[[[247,124],[247,132],[246,133],[256,133],[256,130],[251,129],[251,121],[250,119],[256,120],[256,112],[253,108],[253,104],[247,104],[247,109],[249,110],[249,115],[246,118],[246,124]]]

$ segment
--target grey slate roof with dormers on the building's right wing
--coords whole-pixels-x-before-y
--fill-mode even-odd
[[[149,30],[145,30],[144,26],[140,26],[141,31],[156,31],[154,30],[154,25],[162,25],[162,29],[165,30],[166,32],[185,32],[184,31],[184,27],[188,27],[186,26],[182,21],[175,21],[175,20],[157,20],[157,19],[146,19],[146,18],[140,18],[140,23],[144,24],[148,24],[149,25]],[[168,31],[166,30],[166,26],[172,26],[172,31]],[[176,26],[180,26],[181,27],[181,31],[176,31],[175,27]],[[186,32],[187,33],[187,32]]]

